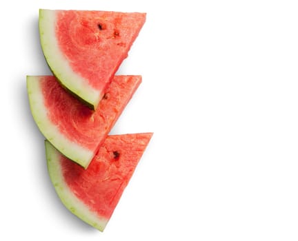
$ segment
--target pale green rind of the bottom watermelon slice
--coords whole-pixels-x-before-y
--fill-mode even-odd
[[[90,224],[99,231],[103,231],[108,223],[108,220],[95,215],[94,212],[88,209],[88,207],[81,202],[81,200],[74,196],[74,193],[72,193],[68,185],[66,185],[63,178],[61,165],[59,164],[59,156],[61,154],[52,146],[52,144],[50,144],[50,142],[48,142],[48,140],[45,140],[45,145],[50,180],[52,181],[52,185],[54,185],[54,189],[56,190],[63,205],[84,222]]]

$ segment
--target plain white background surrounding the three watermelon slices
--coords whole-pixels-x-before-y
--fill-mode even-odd
[[[113,134],[155,132],[103,233],[46,169],[26,75],[38,11],[147,12],[118,74],[143,83]],[[0,240],[298,240],[297,1],[1,1]]]

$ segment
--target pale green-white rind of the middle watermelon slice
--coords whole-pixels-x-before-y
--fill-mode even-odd
[[[89,149],[85,149],[76,143],[71,142],[61,134],[58,127],[53,125],[48,118],[46,106],[43,103],[43,95],[41,91],[40,76],[27,76],[27,90],[30,103],[30,109],[37,127],[64,156],[70,158],[82,167],[88,167],[94,153]]]

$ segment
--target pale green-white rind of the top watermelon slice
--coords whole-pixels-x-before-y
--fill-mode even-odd
[[[39,10],[39,34],[46,61],[63,86],[96,109],[103,93],[92,88],[86,79],[72,70],[59,49],[55,26],[56,10]]]

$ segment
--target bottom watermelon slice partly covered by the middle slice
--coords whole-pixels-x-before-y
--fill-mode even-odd
[[[74,215],[103,231],[152,133],[108,136],[84,170],[46,141],[52,184]]]

